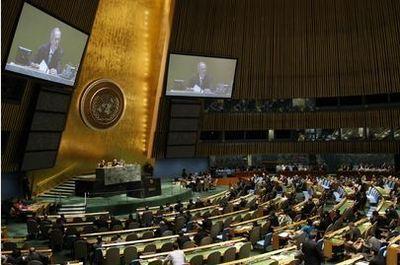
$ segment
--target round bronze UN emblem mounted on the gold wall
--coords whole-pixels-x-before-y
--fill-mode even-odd
[[[100,79],[90,83],[80,99],[82,120],[95,130],[116,125],[124,110],[125,97],[122,89],[111,80]]]

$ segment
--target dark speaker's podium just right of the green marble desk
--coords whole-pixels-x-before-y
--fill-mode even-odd
[[[133,198],[161,195],[161,181],[159,178],[142,176],[142,181],[129,183],[126,195]]]

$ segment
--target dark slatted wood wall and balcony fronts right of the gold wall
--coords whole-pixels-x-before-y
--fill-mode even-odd
[[[344,97],[400,92],[400,2],[178,0],[169,52],[237,58],[233,99]],[[158,113],[153,155],[168,157],[173,99]],[[204,106],[205,100],[192,104]],[[297,113],[201,112],[193,156],[397,153],[399,141],[202,142],[201,131],[400,128],[396,107]]]

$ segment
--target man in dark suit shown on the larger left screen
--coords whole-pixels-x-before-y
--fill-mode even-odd
[[[64,50],[60,47],[61,30],[53,28],[50,33],[50,41],[39,47],[31,66],[39,68],[39,64],[45,61],[52,75],[61,74],[61,58]]]

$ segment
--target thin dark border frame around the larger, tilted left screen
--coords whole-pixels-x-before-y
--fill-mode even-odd
[[[46,80],[46,79],[38,78],[38,77],[35,77],[35,76],[31,76],[31,75],[26,75],[26,74],[19,73],[19,72],[14,72],[14,71],[6,69],[7,60],[8,60],[8,57],[10,56],[10,53],[11,53],[11,47],[12,47],[12,44],[14,42],[15,33],[17,31],[18,23],[19,23],[19,21],[21,19],[22,10],[23,10],[25,4],[30,5],[30,6],[32,6],[34,8],[36,8],[36,9],[40,10],[44,14],[49,15],[50,17],[59,20],[60,22],[66,24],[67,26],[69,26],[69,27],[71,27],[71,28],[73,28],[73,29],[75,29],[75,30],[77,30],[77,31],[79,31],[79,32],[81,32],[81,33],[83,33],[83,34],[85,34],[87,36],[85,47],[83,49],[82,56],[81,56],[81,59],[79,61],[79,68],[78,68],[78,70],[76,72],[76,76],[75,76],[75,80],[74,80],[74,84],[73,85],[58,83],[58,82],[54,82],[54,81],[51,81],[51,80]],[[24,78],[27,78],[28,80],[32,79],[32,80],[36,80],[36,81],[40,81],[40,82],[44,82],[44,83],[51,83],[51,84],[56,84],[56,85],[59,85],[59,86],[75,88],[75,86],[77,85],[77,82],[79,80],[79,76],[80,76],[81,69],[82,69],[82,63],[83,63],[83,60],[84,60],[85,55],[86,55],[86,50],[87,50],[87,46],[88,46],[88,42],[89,42],[91,33],[77,28],[76,26],[74,26],[71,23],[67,22],[65,19],[63,19],[63,18],[61,18],[61,17],[49,12],[48,10],[43,9],[42,7],[39,7],[39,6],[31,3],[29,0],[24,0],[24,1],[21,2],[21,6],[19,7],[18,15],[16,17],[17,17],[17,19],[14,22],[13,29],[12,29],[11,35],[10,35],[10,36],[12,36],[12,40],[7,45],[7,50],[6,50],[6,55],[7,56],[4,57],[4,61],[2,62],[2,66],[1,66],[1,71],[4,72],[4,73],[10,73],[10,74],[14,74],[14,75],[17,75],[17,76],[20,76],[20,77],[24,77]]]

